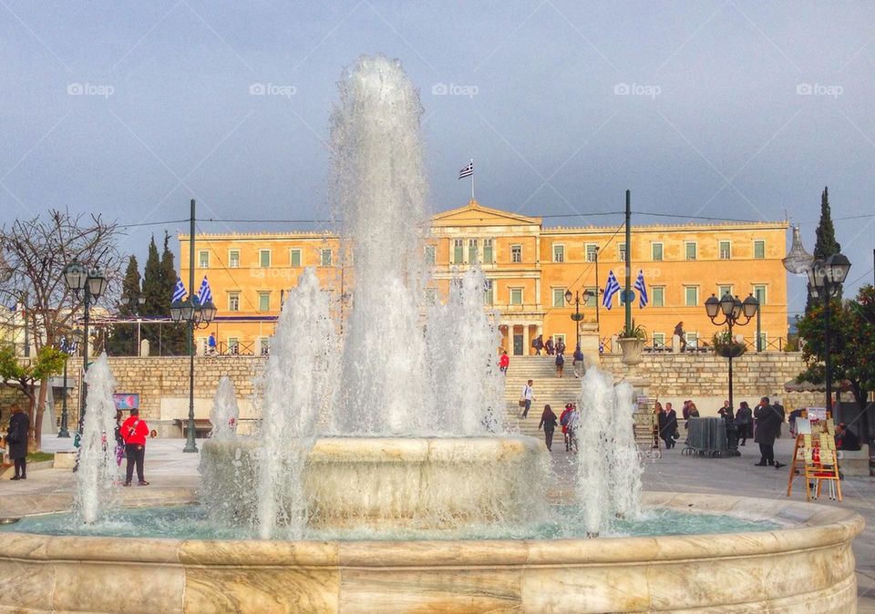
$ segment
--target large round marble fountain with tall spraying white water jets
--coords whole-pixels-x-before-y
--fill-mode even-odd
[[[420,114],[396,61],[362,57],[342,77],[331,190],[341,251],[355,251],[353,309],[341,329],[304,272],[259,382],[259,433],[228,428],[229,382],[216,395],[201,505],[129,511],[127,527],[28,517],[0,531],[0,611],[852,609],[859,516],[639,496],[632,387],[595,369],[577,486],[547,505],[550,456],[501,424],[482,272],[458,272],[446,304],[424,301]]]

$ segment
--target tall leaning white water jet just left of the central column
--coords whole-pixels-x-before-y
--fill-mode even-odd
[[[309,268],[286,295],[262,374],[255,521],[264,539],[278,524],[300,537],[306,524],[302,475],[317,426],[325,428],[335,398],[337,347],[329,293]]]

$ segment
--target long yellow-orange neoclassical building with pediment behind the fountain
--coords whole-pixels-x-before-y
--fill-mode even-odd
[[[671,345],[674,327],[684,322],[690,346],[710,343],[717,327],[705,314],[705,300],[732,292],[753,293],[761,303],[761,347],[779,349],[787,336],[787,222],[633,225],[633,280],[643,272],[649,303],[633,304],[633,318],[648,344]],[[188,280],[189,236],[180,235],[180,277]],[[206,274],[218,316],[202,340],[215,333],[221,352],[267,352],[285,292],[306,267],[314,267],[332,292],[339,317],[354,296],[351,271],[339,257],[335,235],[319,232],[198,234],[195,279]],[[539,334],[563,339],[570,349],[577,329],[575,305],[566,291],[580,293],[581,331],[589,349],[623,327],[620,294],[612,309],[596,292],[612,271],[625,282],[626,245],[616,227],[545,227],[540,218],[490,209],[471,200],[438,213],[424,248],[433,279],[430,300],[446,297],[455,271],[478,263],[489,280],[484,302],[500,313],[502,345],[511,354],[531,353]],[[589,294],[584,294],[589,291]],[[757,322],[736,328],[747,343],[756,340]],[[610,347],[610,343],[607,343]],[[571,351],[571,350],[570,350]]]

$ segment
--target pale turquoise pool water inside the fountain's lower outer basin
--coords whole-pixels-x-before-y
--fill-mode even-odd
[[[705,535],[768,531],[779,525],[729,515],[695,514],[669,509],[650,509],[635,519],[618,519],[602,537]],[[252,527],[221,527],[198,505],[131,507],[92,525],[77,522],[69,513],[24,517],[0,532],[92,537],[159,537],[168,539],[252,539]],[[282,531],[281,531],[282,533]],[[573,539],[587,537],[577,510],[570,506],[551,508],[550,517],[525,526],[471,526],[452,533],[441,530],[363,527],[309,530],[305,539],[355,541],[390,539]],[[282,535],[277,538],[282,539]]]

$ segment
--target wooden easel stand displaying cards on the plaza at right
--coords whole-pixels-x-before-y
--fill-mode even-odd
[[[827,481],[829,498],[841,501],[836,427],[829,412],[826,414],[826,419],[817,422],[809,422],[806,411],[799,415],[793,461],[790,463],[790,476],[787,478],[787,496],[793,492],[793,478],[796,476],[801,476],[805,480],[807,501],[820,496],[824,480]],[[815,485],[813,493],[812,483]]]

